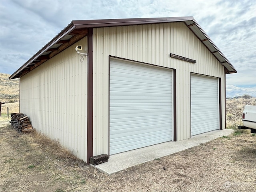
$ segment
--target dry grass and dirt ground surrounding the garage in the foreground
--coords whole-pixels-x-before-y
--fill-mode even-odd
[[[256,135],[230,136],[107,176],[0,118],[1,192],[255,192]]]

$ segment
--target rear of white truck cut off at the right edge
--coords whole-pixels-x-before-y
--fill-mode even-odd
[[[244,126],[238,126],[238,129],[250,129],[251,133],[256,133],[256,106],[244,106],[242,122]]]

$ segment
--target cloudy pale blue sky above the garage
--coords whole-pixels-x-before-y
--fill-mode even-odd
[[[12,74],[72,20],[193,16],[238,73],[226,96],[256,96],[255,0],[0,0],[0,73]]]

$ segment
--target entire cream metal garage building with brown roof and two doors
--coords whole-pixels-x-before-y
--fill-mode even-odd
[[[224,129],[230,73],[193,17],[136,18],[72,21],[10,79],[33,127],[89,163]]]

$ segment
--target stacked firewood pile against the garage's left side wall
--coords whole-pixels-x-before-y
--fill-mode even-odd
[[[10,124],[18,132],[32,132],[34,131],[30,120],[23,113],[11,113],[12,120]]]

